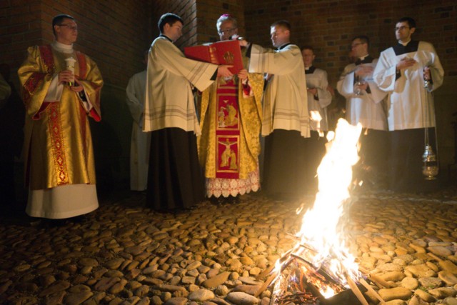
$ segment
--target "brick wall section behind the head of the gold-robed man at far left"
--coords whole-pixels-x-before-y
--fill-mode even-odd
[[[1,1],[0,61],[16,70],[28,46],[54,40],[52,18],[69,14],[79,26],[76,49],[96,61],[107,84],[125,87],[129,77],[143,69],[141,56],[151,37],[150,11],[149,1]]]

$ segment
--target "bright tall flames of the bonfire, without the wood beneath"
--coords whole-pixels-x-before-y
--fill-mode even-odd
[[[342,236],[341,217],[344,204],[350,197],[352,166],[358,161],[357,142],[361,125],[352,126],[345,120],[338,121],[335,138],[327,144],[327,154],[318,167],[318,193],[313,208],[303,216],[297,236],[301,244],[317,251],[311,258],[313,266],[327,264],[331,275],[346,286],[346,274],[358,279],[358,265],[349,254]]]

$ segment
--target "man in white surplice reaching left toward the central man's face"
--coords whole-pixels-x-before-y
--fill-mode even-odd
[[[303,193],[306,164],[303,139],[310,135],[306,78],[298,46],[291,44],[287,21],[271,25],[277,49],[248,46],[249,72],[266,74],[262,136],[265,138],[263,190],[269,196],[291,198]],[[241,41],[241,45],[247,41]]]

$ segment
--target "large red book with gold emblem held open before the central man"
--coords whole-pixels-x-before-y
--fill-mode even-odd
[[[201,46],[186,46],[184,55],[188,59],[210,62],[211,64],[230,64],[231,73],[237,74],[243,69],[243,59],[238,41],[224,40],[214,44]]]

